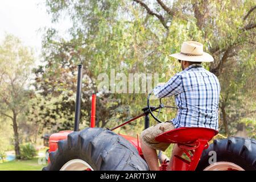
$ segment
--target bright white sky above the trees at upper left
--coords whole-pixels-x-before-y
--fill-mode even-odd
[[[0,0],[0,40],[6,33],[18,36],[24,45],[34,48],[37,57],[40,55],[43,35],[40,29],[55,27],[65,34],[70,26],[68,20],[52,24],[44,0]]]

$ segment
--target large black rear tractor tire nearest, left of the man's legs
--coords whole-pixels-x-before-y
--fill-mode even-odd
[[[67,139],[58,142],[58,149],[50,152],[49,158],[51,162],[43,170],[63,169],[64,164],[72,160],[82,160],[94,171],[148,170],[147,163],[139,156],[133,144],[102,128],[88,127],[70,133]],[[76,170],[76,168],[69,169]]]

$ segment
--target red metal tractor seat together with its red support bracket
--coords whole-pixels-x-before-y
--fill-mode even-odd
[[[177,143],[190,160],[174,155],[171,170],[173,171],[194,171],[200,160],[203,150],[208,148],[208,142],[215,135],[217,130],[204,127],[180,127],[166,131],[158,135],[155,140],[165,143]]]

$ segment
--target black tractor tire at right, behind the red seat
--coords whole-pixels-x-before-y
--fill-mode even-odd
[[[215,163],[209,160],[216,152]],[[209,153],[210,152],[210,153]],[[256,140],[241,137],[217,139],[203,151],[196,170],[256,170]]]

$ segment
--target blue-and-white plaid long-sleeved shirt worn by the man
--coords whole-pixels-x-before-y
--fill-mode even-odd
[[[175,96],[178,111],[171,122],[176,128],[207,127],[218,130],[220,83],[200,64],[192,64],[176,73],[166,84],[156,86],[154,94],[158,98]]]

